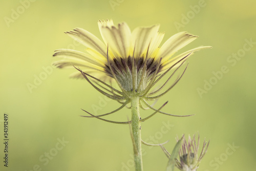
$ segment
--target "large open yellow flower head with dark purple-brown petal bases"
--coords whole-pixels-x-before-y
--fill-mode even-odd
[[[155,110],[145,100],[156,100],[166,94],[183,74],[163,93],[155,95],[173,74],[159,89],[152,91],[153,86],[171,69],[175,69],[175,73],[192,53],[211,48],[198,47],[174,56],[198,36],[180,32],[160,46],[164,33],[159,32],[159,25],[137,27],[132,32],[124,22],[115,26],[112,20],[99,20],[98,26],[103,42],[81,28],[65,32],[87,49],[84,52],[58,49],[53,56],[62,60],[55,61],[54,65],[58,68],[75,67],[78,71],[71,77],[86,78],[100,93],[121,102],[122,107],[132,97],[138,96],[148,108]],[[119,88],[106,83],[111,81],[117,82]]]

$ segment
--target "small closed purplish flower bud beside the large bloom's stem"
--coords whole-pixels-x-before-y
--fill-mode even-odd
[[[204,157],[205,153],[207,152],[208,145],[209,145],[209,142],[207,143],[204,140],[203,148],[199,155],[198,154],[199,136],[198,136],[198,143],[196,143],[195,135],[193,139],[191,139],[189,136],[188,142],[184,139],[182,148],[180,149],[180,152],[179,152],[180,160],[177,160],[176,166],[183,171],[196,171],[199,167],[199,163],[201,159]]]

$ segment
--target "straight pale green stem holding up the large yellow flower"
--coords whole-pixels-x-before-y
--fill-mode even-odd
[[[133,135],[133,151],[135,170],[143,171],[142,153],[141,153],[141,127],[140,127],[140,111],[139,111],[139,97],[131,98],[132,105],[132,135]]]

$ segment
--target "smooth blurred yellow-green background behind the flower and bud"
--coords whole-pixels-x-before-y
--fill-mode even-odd
[[[165,147],[171,152],[177,135],[200,133],[210,146],[198,170],[256,170],[255,6],[252,0],[1,1],[1,170],[134,170],[127,125],[79,117],[85,115],[80,108],[103,114],[119,103],[85,80],[70,79],[74,70],[51,66],[54,50],[84,49],[63,32],[81,27],[100,37],[97,20],[107,18],[125,21],[131,30],[161,24],[163,42],[179,31],[200,36],[180,52],[213,47],[188,59],[182,80],[157,104],[169,100],[163,111],[196,115],[158,114],[143,122],[142,138],[170,140]],[[4,113],[9,114],[8,168],[3,166]],[[127,116],[130,110],[123,109],[105,118],[126,121]],[[144,170],[165,170],[160,147],[143,149]]]

